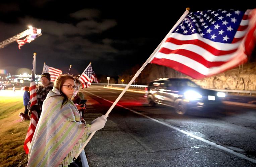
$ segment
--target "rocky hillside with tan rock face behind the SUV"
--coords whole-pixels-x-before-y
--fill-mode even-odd
[[[140,65],[133,67],[130,70],[124,72],[119,76],[118,83],[122,83],[121,79],[124,79],[124,84],[127,84]],[[207,77],[202,80],[192,79],[174,69],[160,66],[156,64],[147,64],[145,69],[141,72],[139,77],[135,80],[135,84],[147,85],[149,81],[156,78],[170,77],[170,78],[189,78],[196,82],[203,88],[208,89],[230,89],[230,90],[256,90],[256,62],[248,62],[240,65],[234,69],[226,72]]]

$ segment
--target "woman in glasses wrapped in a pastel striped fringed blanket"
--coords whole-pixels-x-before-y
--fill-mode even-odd
[[[69,74],[60,75],[43,103],[28,153],[27,166],[78,166],[75,155],[88,134],[105,126],[106,115],[96,118],[91,125],[82,123],[71,98],[78,90]]]

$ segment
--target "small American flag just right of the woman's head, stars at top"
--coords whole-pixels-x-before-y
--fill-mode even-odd
[[[82,83],[82,87],[83,88],[88,88],[91,85],[91,82],[97,82],[98,83],[98,79],[95,75],[95,72],[93,71],[91,64],[88,66],[88,68],[80,75],[80,77],[78,78],[81,83]]]

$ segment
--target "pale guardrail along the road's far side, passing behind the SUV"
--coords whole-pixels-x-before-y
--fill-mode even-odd
[[[108,83],[92,83],[92,85],[108,85]],[[127,84],[115,84],[115,83],[109,83],[109,86],[116,86],[116,87],[126,87]],[[146,85],[131,85],[130,87],[133,88],[147,88]],[[241,94],[249,94],[252,96],[252,94],[256,94],[256,91],[244,91],[244,90],[229,90],[229,89],[210,89],[218,92],[225,92],[228,93],[237,93],[238,95]]]

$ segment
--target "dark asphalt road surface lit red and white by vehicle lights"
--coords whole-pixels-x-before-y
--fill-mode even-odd
[[[86,121],[105,114],[121,91],[83,91]],[[107,101],[106,101],[107,100]],[[256,110],[234,106],[178,115],[148,107],[143,94],[126,92],[85,153],[89,166],[256,166]]]

